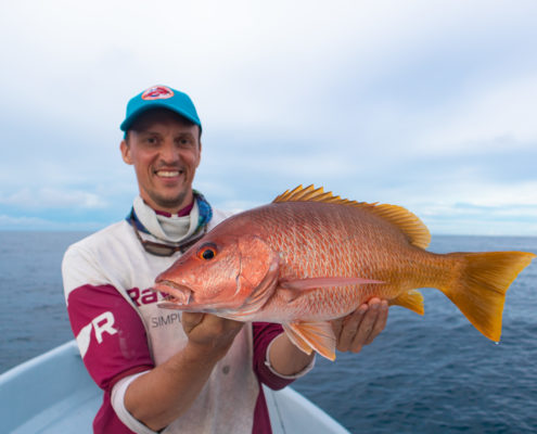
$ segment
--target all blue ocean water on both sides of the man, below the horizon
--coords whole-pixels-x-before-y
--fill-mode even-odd
[[[84,232],[0,232],[0,372],[73,339],[61,278]],[[520,250],[537,238],[433,237],[432,252]],[[351,433],[537,433],[537,260],[507,294],[499,344],[437,290],[360,354],[318,357],[295,390]]]

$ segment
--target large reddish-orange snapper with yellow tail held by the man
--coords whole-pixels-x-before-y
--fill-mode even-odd
[[[372,297],[423,315],[415,289],[436,288],[498,342],[506,292],[536,256],[425,251],[423,222],[395,205],[297,187],[234,215],[155,280],[161,307],[283,326],[291,341],[334,360],[330,321]]]

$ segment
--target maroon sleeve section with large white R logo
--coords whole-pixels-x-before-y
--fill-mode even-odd
[[[112,285],[82,285],[67,299],[71,327],[93,381],[111,392],[122,378],[154,367],[142,320]]]

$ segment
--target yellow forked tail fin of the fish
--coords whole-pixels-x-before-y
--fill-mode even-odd
[[[506,292],[537,255],[526,252],[451,253],[462,264],[458,281],[439,288],[469,321],[498,342]]]

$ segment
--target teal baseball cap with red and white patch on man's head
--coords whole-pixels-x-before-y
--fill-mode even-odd
[[[138,116],[152,108],[170,110],[197,125],[200,130],[202,129],[194,103],[187,93],[167,86],[153,86],[128,102],[127,115],[119,126],[122,131],[127,131]]]

